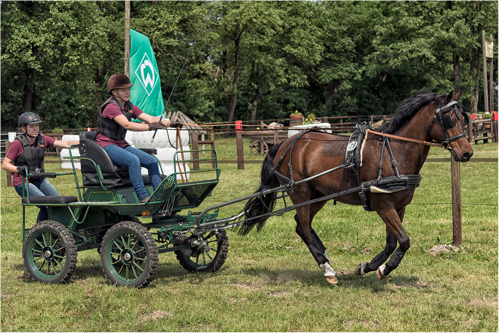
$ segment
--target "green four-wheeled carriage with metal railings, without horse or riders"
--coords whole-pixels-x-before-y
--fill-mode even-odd
[[[71,146],[71,148],[73,147]],[[192,154],[194,152],[209,152],[210,156],[213,152],[214,157],[178,161],[179,154]],[[28,273],[34,280],[59,283],[69,279],[76,265],[76,259],[74,264],[71,263],[69,254],[72,251],[76,253],[95,248],[101,252],[100,248],[103,246],[103,242],[106,246],[104,252],[109,252],[107,254],[101,253],[104,272],[112,283],[118,285],[140,288],[149,284],[155,273],[154,265],[157,267],[158,253],[174,251],[180,263],[190,271],[213,271],[222,266],[228,251],[225,231],[218,231],[216,228],[199,228],[196,222],[196,214],[199,213],[193,213],[189,210],[198,207],[207,196],[211,195],[219,182],[220,169],[215,151],[177,152],[173,161],[174,173],[167,176],[162,175],[162,182],[156,190],[153,190],[150,183],[145,182],[144,185],[150,195],[145,203],[139,202],[131,183],[118,185],[103,183],[105,178],[99,161],[83,156],[73,157],[71,154],[66,159],[71,160],[73,172],[55,173],[54,175],[74,175],[78,197],[30,197],[29,193],[26,193],[22,199],[23,258]],[[75,159],[86,160],[95,167],[98,183],[79,185],[73,162]],[[201,161],[210,161],[214,167],[197,171],[178,171],[177,164],[180,168],[181,164]],[[161,164],[159,165],[161,167]],[[161,171],[163,171],[162,168]],[[187,178],[187,173],[197,174],[201,177],[206,176],[208,179],[184,181],[184,178]],[[177,180],[178,175],[182,175],[182,182]],[[82,184],[84,183],[85,176],[82,173]],[[83,192],[82,189],[84,189]],[[38,223],[47,225],[47,227],[41,230],[42,226],[36,224],[32,228],[25,228],[25,207],[39,205],[48,206],[49,220]],[[187,214],[180,214],[182,210],[188,210]],[[216,220],[217,216],[218,210],[205,215],[203,221]],[[142,221],[137,217],[143,217]],[[61,231],[59,224],[64,227],[62,228],[65,229],[64,231]],[[59,226],[59,229],[53,228],[53,225]],[[35,232],[37,233],[34,234]],[[64,238],[67,232],[70,235],[67,234]],[[190,237],[186,237],[187,235]],[[26,237],[29,238],[27,241]],[[126,237],[128,237],[128,245]],[[210,237],[214,237],[215,240],[209,240]],[[135,245],[130,245],[133,243],[130,239],[135,240]],[[211,242],[217,242],[217,249],[208,245]],[[64,247],[63,252],[66,255],[56,255],[57,251],[62,251],[57,248],[56,243],[61,248]],[[71,245],[73,243],[74,245]],[[140,250],[134,248],[138,246],[137,244],[141,244]],[[71,246],[74,249],[71,249]],[[213,250],[212,255],[215,253],[214,257],[210,255],[211,250]],[[119,252],[119,255],[115,252]],[[44,257],[44,253],[49,253],[50,256],[45,254],[48,257]],[[118,261],[116,257],[113,258],[113,255],[118,256],[118,259],[121,260],[119,264],[122,265],[122,268],[126,268],[126,274],[121,272],[122,269],[119,269],[119,272],[118,269],[115,269]],[[127,259],[127,261],[125,258],[133,259]],[[43,261],[46,262],[46,265],[42,263]],[[147,267],[140,267],[136,262],[148,262],[149,264]],[[150,262],[153,264],[151,265]],[[39,267],[39,263],[42,263],[41,267]],[[67,268],[68,266],[72,268]],[[63,267],[66,271],[62,269]],[[52,278],[52,276],[57,277],[61,274],[64,276],[60,279]],[[137,276],[141,278],[139,279]]]

